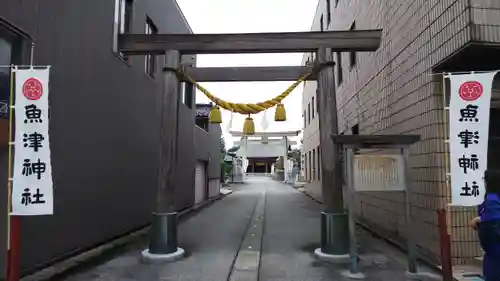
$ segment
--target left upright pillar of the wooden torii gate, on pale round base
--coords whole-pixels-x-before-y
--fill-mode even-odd
[[[156,207],[150,228],[149,248],[142,251],[145,262],[169,262],[184,256],[177,246],[175,185],[177,169],[177,107],[179,106],[179,51],[165,52],[160,104],[160,155],[158,163]]]

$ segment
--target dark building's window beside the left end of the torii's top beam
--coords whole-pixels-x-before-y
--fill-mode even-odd
[[[115,0],[115,26],[113,31],[113,51],[123,60],[129,57],[118,51],[118,35],[132,31],[132,20],[134,15],[133,0]]]

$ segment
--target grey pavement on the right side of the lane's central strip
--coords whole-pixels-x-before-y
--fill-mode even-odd
[[[312,254],[320,244],[322,205],[299,191],[273,185],[267,190],[265,233],[260,264],[261,281],[351,280],[342,276],[346,265],[319,261]],[[405,280],[406,257],[385,242],[358,229],[364,280]],[[441,280],[432,276],[423,280]]]

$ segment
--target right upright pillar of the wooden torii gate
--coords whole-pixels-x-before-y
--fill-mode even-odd
[[[325,48],[317,51],[319,135],[321,143],[321,190],[324,211],[321,213],[321,248],[315,251],[319,258],[349,259],[348,216],[344,210],[342,165],[340,147],[330,136],[338,134],[337,97],[332,52]]]

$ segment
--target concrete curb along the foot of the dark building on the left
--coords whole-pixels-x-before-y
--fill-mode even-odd
[[[194,213],[195,211],[199,211],[205,207],[208,207],[215,201],[218,201],[227,195],[233,193],[231,190],[230,192],[224,192],[220,193],[218,196],[210,198],[200,204],[197,204],[189,209],[186,209],[184,211],[179,212],[179,219],[186,218],[187,215]],[[125,234],[124,236],[114,239],[112,241],[109,241],[107,243],[104,243],[96,248],[93,248],[91,250],[88,250],[86,252],[83,252],[81,254],[78,254],[76,256],[70,257],[66,260],[63,260],[59,263],[53,264],[52,266],[49,266],[47,268],[44,268],[40,271],[37,271],[33,274],[27,275],[23,278],[21,278],[21,281],[50,281],[53,280],[54,278],[62,277],[66,273],[70,272],[71,270],[75,270],[80,266],[83,266],[84,264],[90,263],[92,260],[96,260],[99,257],[104,256],[107,253],[110,253],[113,250],[116,250],[120,247],[123,247],[127,244],[130,244],[134,241],[136,241],[138,238],[143,237],[148,234],[149,231],[149,225],[146,227],[143,227],[139,230],[136,230],[132,233]]]

